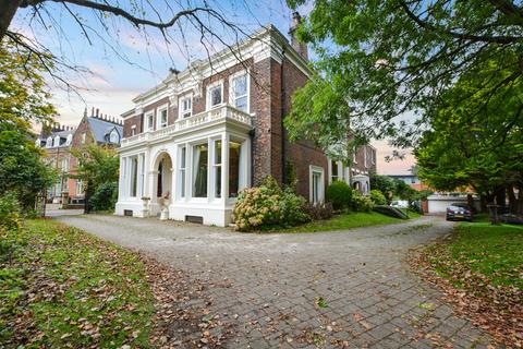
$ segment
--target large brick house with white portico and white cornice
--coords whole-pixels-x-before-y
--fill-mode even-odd
[[[330,181],[349,181],[350,171],[351,184],[368,191],[373,147],[357,149],[349,169],[311,142],[288,141],[283,118],[311,74],[306,46],[271,25],[234,51],[172,71],[121,116],[115,213],[144,217],[165,205],[171,219],[226,226],[241,189],[268,174],[287,182],[291,169],[297,193],[312,202],[324,200]]]

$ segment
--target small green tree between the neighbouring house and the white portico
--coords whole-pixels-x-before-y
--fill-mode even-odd
[[[117,151],[107,146],[89,144],[80,149],[71,149],[77,167],[71,178],[80,179],[86,193],[93,193],[94,209],[112,209],[118,191],[120,159]],[[106,205],[104,205],[106,203]],[[89,203],[93,204],[93,203]]]

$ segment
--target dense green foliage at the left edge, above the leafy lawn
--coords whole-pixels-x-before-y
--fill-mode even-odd
[[[36,195],[51,185],[56,176],[24,130],[0,123],[0,193],[15,192],[22,208],[31,209]]]

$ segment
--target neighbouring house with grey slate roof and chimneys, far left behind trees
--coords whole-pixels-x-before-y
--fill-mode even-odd
[[[101,115],[93,108],[90,116],[87,108],[75,128],[44,127],[36,145],[45,149],[46,163],[56,168],[60,176],[56,185],[48,189],[48,200],[60,204],[83,204],[85,200],[84,183],[70,178],[75,173],[76,159],[71,149],[80,149],[87,144],[99,144],[118,147],[123,137],[123,125],[119,118]]]

